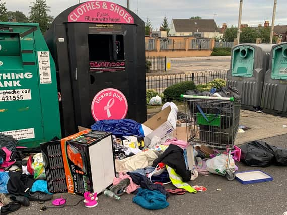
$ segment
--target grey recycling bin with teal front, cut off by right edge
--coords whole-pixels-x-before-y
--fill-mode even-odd
[[[274,45],[266,72],[261,107],[268,112],[287,114],[287,42]]]

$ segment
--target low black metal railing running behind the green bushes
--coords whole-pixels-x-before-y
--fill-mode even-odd
[[[214,79],[226,79],[227,71],[200,71],[198,73],[171,74],[147,76],[147,89],[154,89],[162,93],[167,87],[183,81],[194,81],[195,85],[206,84]]]

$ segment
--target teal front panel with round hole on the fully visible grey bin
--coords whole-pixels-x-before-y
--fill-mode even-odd
[[[233,49],[231,75],[252,77],[255,50],[252,46],[242,45]]]

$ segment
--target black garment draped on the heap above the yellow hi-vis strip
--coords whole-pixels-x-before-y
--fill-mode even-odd
[[[183,182],[190,181],[191,171],[186,169],[185,160],[183,156],[183,149],[177,145],[171,144],[166,151],[153,162],[153,167],[158,163],[163,162],[175,170],[175,172],[182,177]]]

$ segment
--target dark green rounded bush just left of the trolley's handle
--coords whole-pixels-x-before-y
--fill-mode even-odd
[[[180,98],[181,94],[185,94],[187,90],[194,90],[196,89],[195,84],[193,81],[184,81],[174,85],[169,86],[164,90],[164,98],[166,101],[171,100],[182,100]]]

